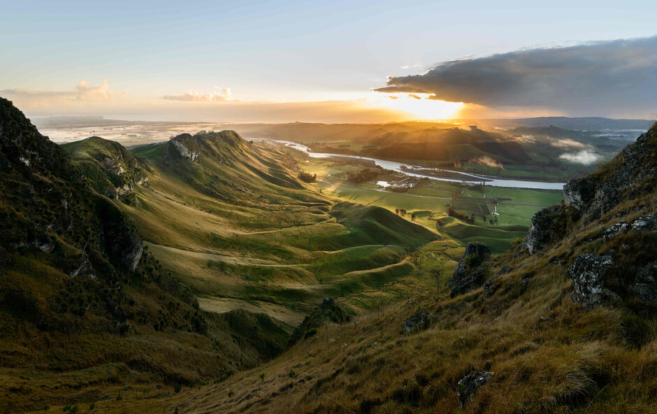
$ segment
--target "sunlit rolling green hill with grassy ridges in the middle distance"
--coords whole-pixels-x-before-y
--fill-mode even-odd
[[[66,149],[85,162],[101,141]],[[324,197],[296,178],[296,160],[233,131],[182,134],[131,154],[147,185],[121,207],[205,310],[259,310],[296,324],[324,296],[346,294],[353,275],[347,306],[360,311],[369,302],[359,292],[408,276],[405,254],[438,237],[389,210]],[[386,270],[397,264],[403,272]]]

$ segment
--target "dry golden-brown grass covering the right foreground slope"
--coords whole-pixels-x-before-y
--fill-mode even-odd
[[[515,269],[496,279],[488,297],[479,289],[450,299],[448,271],[438,290],[347,324],[327,323],[273,361],[221,383],[157,396],[125,392],[120,404],[99,401],[95,412],[656,413],[657,322],[637,322],[622,307],[572,304],[568,260],[558,259],[586,248],[576,244],[494,258],[491,274],[503,264]],[[424,271],[435,266],[416,262]],[[419,308],[430,313],[430,327],[401,334]],[[639,341],[632,329],[644,332]],[[495,375],[461,407],[457,383],[472,369]]]

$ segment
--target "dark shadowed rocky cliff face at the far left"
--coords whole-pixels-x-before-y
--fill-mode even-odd
[[[136,229],[87,187],[82,169],[62,148],[4,99],[0,158],[0,251],[6,264],[15,264],[14,257],[48,253],[39,260],[73,277],[107,283],[120,295],[121,280],[135,271],[143,254]]]

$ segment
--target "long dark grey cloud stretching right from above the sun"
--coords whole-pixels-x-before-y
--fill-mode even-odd
[[[655,110],[657,36],[444,62],[421,75],[389,77],[375,90],[490,107]]]

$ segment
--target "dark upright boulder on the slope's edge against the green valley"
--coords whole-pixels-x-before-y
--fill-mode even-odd
[[[490,256],[491,249],[484,243],[468,243],[465,246],[465,252],[448,281],[452,287],[451,297],[470,292],[484,283],[486,271],[480,265]]]

